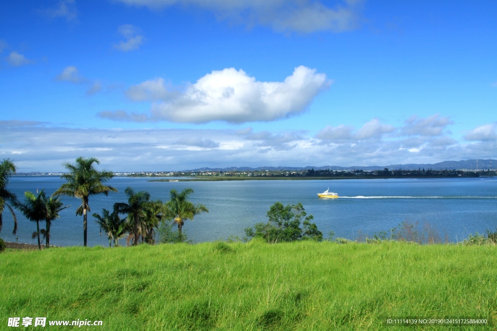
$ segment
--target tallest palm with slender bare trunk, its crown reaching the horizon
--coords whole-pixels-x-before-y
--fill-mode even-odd
[[[76,209],[77,215],[83,215],[83,243],[86,246],[86,213],[90,211],[88,205],[88,197],[96,194],[105,194],[109,192],[117,192],[112,186],[106,186],[102,183],[111,179],[114,175],[111,171],[98,171],[93,167],[93,163],[100,164],[94,158],[84,158],[82,156],[76,159],[76,164],[65,162],[62,165],[69,170],[69,173],[64,174],[61,178],[67,181],[55,191],[54,195],[63,195],[72,198],[80,198],[82,200],[81,206]]]

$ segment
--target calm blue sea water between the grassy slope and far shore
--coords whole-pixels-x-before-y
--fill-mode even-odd
[[[63,184],[59,177],[14,176],[9,189],[23,198],[25,191],[45,189],[51,195]],[[276,201],[284,204],[301,202],[314,222],[325,234],[356,239],[366,234],[387,231],[403,221],[428,222],[442,239],[461,241],[468,234],[495,230],[497,227],[497,178],[444,179],[349,179],[349,180],[259,180],[226,182],[151,182],[147,178],[116,177],[108,182],[119,193],[91,196],[91,213],[111,210],[114,202],[124,202],[124,190],[148,191],[152,199],[166,201],[169,191],[192,188],[194,203],[203,203],[209,213],[186,221],[183,229],[194,243],[222,240],[230,235],[242,237],[244,229],[256,222],[266,222],[266,211]],[[338,199],[320,199],[317,193],[330,188]],[[83,217],[76,216],[79,199],[63,198],[71,207],[61,212],[51,228],[52,245],[83,245]],[[90,213],[90,214],[91,214]],[[18,242],[35,243],[31,234],[36,223],[27,221],[20,212]],[[3,212],[0,237],[15,242],[12,218]],[[88,217],[88,245],[108,245],[100,235],[93,217]]]

